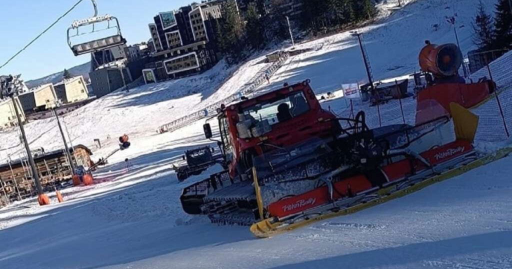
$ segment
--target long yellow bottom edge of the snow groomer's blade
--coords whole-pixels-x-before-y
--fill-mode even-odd
[[[374,205],[381,204],[383,202],[387,202],[396,198],[400,198],[403,196],[406,196],[410,193],[419,191],[423,188],[426,188],[434,183],[450,179],[452,177],[464,174],[467,171],[473,170],[475,168],[481,167],[482,165],[488,164],[490,162],[502,159],[506,156],[508,156],[512,152],[512,147],[510,148],[504,148],[501,149],[493,154],[489,154],[481,159],[475,160],[473,162],[470,162],[466,165],[463,165],[459,168],[455,168],[452,170],[449,170],[445,173],[442,173],[440,175],[431,177],[429,179],[425,179],[419,183],[416,183],[406,189],[402,189],[400,191],[390,193],[392,190],[392,187],[387,189],[382,189],[378,192],[379,197],[375,198],[373,200],[370,200],[366,203],[360,203],[354,206],[351,206],[350,208],[340,210],[338,212],[332,212],[328,214],[323,214],[319,216],[314,216],[309,219],[303,219],[297,222],[293,223],[284,223],[284,222],[274,222],[272,218],[268,218],[262,221],[259,221],[257,223],[252,224],[250,227],[250,231],[259,238],[267,238],[274,235],[282,234],[285,232],[293,231],[295,229],[301,228],[303,226],[307,226],[311,223],[326,220],[334,217],[349,215],[367,208],[371,208]]]

